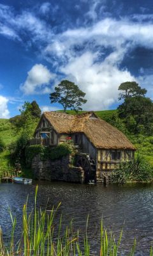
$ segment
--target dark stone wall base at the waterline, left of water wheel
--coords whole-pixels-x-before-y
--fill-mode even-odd
[[[81,167],[69,166],[69,156],[55,161],[41,161],[40,156],[32,161],[34,177],[38,180],[63,180],[84,183],[84,170]]]

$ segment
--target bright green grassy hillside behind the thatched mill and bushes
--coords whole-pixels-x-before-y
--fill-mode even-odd
[[[80,111],[79,113],[82,112],[84,111]],[[72,115],[75,114],[75,111],[69,110],[67,113]],[[95,113],[99,116],[99,118],[108,120],[114,113],[117,113],[117,110],[95,111]],[[33,127],[33,130],[34,129],[35,125]],[[137,148],[136,154],[142,154],[153,166],[153,136],[136,136],[132,134],[126,135]],[[4,170],[8,170],[10,165],[11,168],[14,168],[13,164],[11,163],[9,145],[10,143],[15,143],[18,136],[20,136],[20,131],[17,131],[17,129],[11,125],[8,119],[0,119],[0,138],[3,139],[6,145],[6,150],[0,153],[0,174],[1,172],[4,172]]]

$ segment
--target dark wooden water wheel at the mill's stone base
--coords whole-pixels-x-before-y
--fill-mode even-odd
[[[85,183],[96,180],[96,164],[88,155],[78,155],[76,161],[77,167],[82,167],[85,173]]]

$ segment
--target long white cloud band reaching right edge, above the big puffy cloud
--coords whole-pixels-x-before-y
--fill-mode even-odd
[[[92,26],[78,29],[67,29],[52,37],[52,44],[48,44],[45,54],[57,54],[57,57],[70,58],[78,54],[74,47],[81,49],[89,47],[119,47],[133,48],[136,45],[153,49],[153,24],[145,22],[131,22],[128,19],[103,19]],[[79,35],[79,36],[78,36]]]

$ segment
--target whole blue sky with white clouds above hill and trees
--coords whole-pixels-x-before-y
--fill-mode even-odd
[[[153,99],[150,0],[0,0],[0,118],[24,101],[61,109],[49,93],[62,79],[86,93],[85,110],[113,109],[120,83]]]

